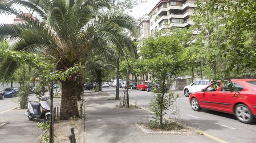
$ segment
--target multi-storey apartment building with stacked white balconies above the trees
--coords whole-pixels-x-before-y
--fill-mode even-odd
[[[167,27],[189,27],[195,0],[160,0],[150,11],[150,33]]]

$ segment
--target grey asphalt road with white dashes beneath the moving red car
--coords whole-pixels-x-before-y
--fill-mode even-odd
[[[103,88],[103,91],[115,95],[115,88]],[[152,93],[137,90],[129,90],[129,93],[131,103],[137,101],[138,106],[149,109],[149,102],[154,98]],[[175,102],[179,108],[179,122],[200,128],[204,132],[230,143],[255,143],[256,124],[240,123],[234,115],[227,113],[205,109],[195,112],[189,104],[188,97],[185,97],[182,91],[175,93],[180,96]],[[120,89],[119,96],[123,96],[123,89]],[[168,111],[168,114],[170,113],[171,111]]]

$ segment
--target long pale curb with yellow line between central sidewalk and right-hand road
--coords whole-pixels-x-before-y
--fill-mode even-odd
[[[105,91],[103,91],[103,92],[106,93]],[[110,94],[110,93],[106,93],[106,94],[115,97],[114,95],[112,95],[112,94]],[[130,102],[129,102],[129,104],[135,105],[135,104],[130,103]],[[144,108],[144,107],[142,107],[142,106],[138,106],[138,105],[137,105],[137,107],[138,107],[138,108],[141,108],[141,109],[143,109],[143,110],[146,110],[147,112],[150,112],[150,113],[153,113],[153,114],[154,114],[154,112],[151,112],[150,110],[148,110],[148,109],[146,109],[146,108]],[[163,116],[163,118],[164,118],[165,120],[171,120],[171,119],[167,118],[166,116]],[[171,120],[171,121],[174,121],[174,120]],[[176,121],[175,121],[175,122],[176,122]],[[219,143],[229,143],[229,142],[224,141],[224,140],[222,140],[222,139],[219,139],[219,138],[217,138],[217,137],[215,137],[215,136],[213,136],[213,135],[210,135],[210,134],[208,134],[208,133],[206,133],[206,132],[204,132],[204,131],[202,131],[202,130],[200,130],[200,129],[192,128],[192,127],[190,127],[190,126],[187,126],[187,125],[185,125],[185,124],[181,124],[181,123],[179,123],[179,122],[176,122],[176,123],[179,124],[179,125],[181,125],[181,126],[183,126],[183,127],[185,127],[185,128],[190,128],[190,129],[198,130],[198,131],[200,131],[201,133],[203,133],[204,136],[206,136],[206,137],[208,137],[208,138],[210,138],[210,139],[213,139],[213,140],[215,140],[216,142],[219,142]],[[135,125],[136,125],[136,124],[135,124]],[[136,125],[136,126],[137,126],[137,125]],[[138,126],[137,126],[137,127],[138,127]],[[138,128],[139,128],[139,127],[138,127]],[[144,132],[144,131],[143,131],[143,132]],[[160,131],[160,132],[162,132],[162,131]],[[145,133],[146,133],[146,132],[145,132]]]

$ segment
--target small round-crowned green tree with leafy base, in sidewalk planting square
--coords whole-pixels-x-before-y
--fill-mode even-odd
[[[181,39],[175,35],[179,31],[175,31],[172,35],[163,35],[162,32],[144,39],[140,48],[147,69],[154,73],[155,82],[160,85],[160,89],[154,93],[154,100],[150,101],[150,109],[154,112],[160,128],[163,128],[163,115],[177,98],[174,93],[167,93],[166,85],[169,84],[167,79],[174,79],[185,69],[187,57]]]

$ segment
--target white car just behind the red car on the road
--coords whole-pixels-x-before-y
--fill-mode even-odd
[[[211,84],[211,81],[209,80],[195,81],[194,83],[191,83],[190,85],[187,85],[184,87],[183,89],[184,95],[185,97],[189,97],[191,93],[201,91],[202,89],[206,88],[210,84]]]

